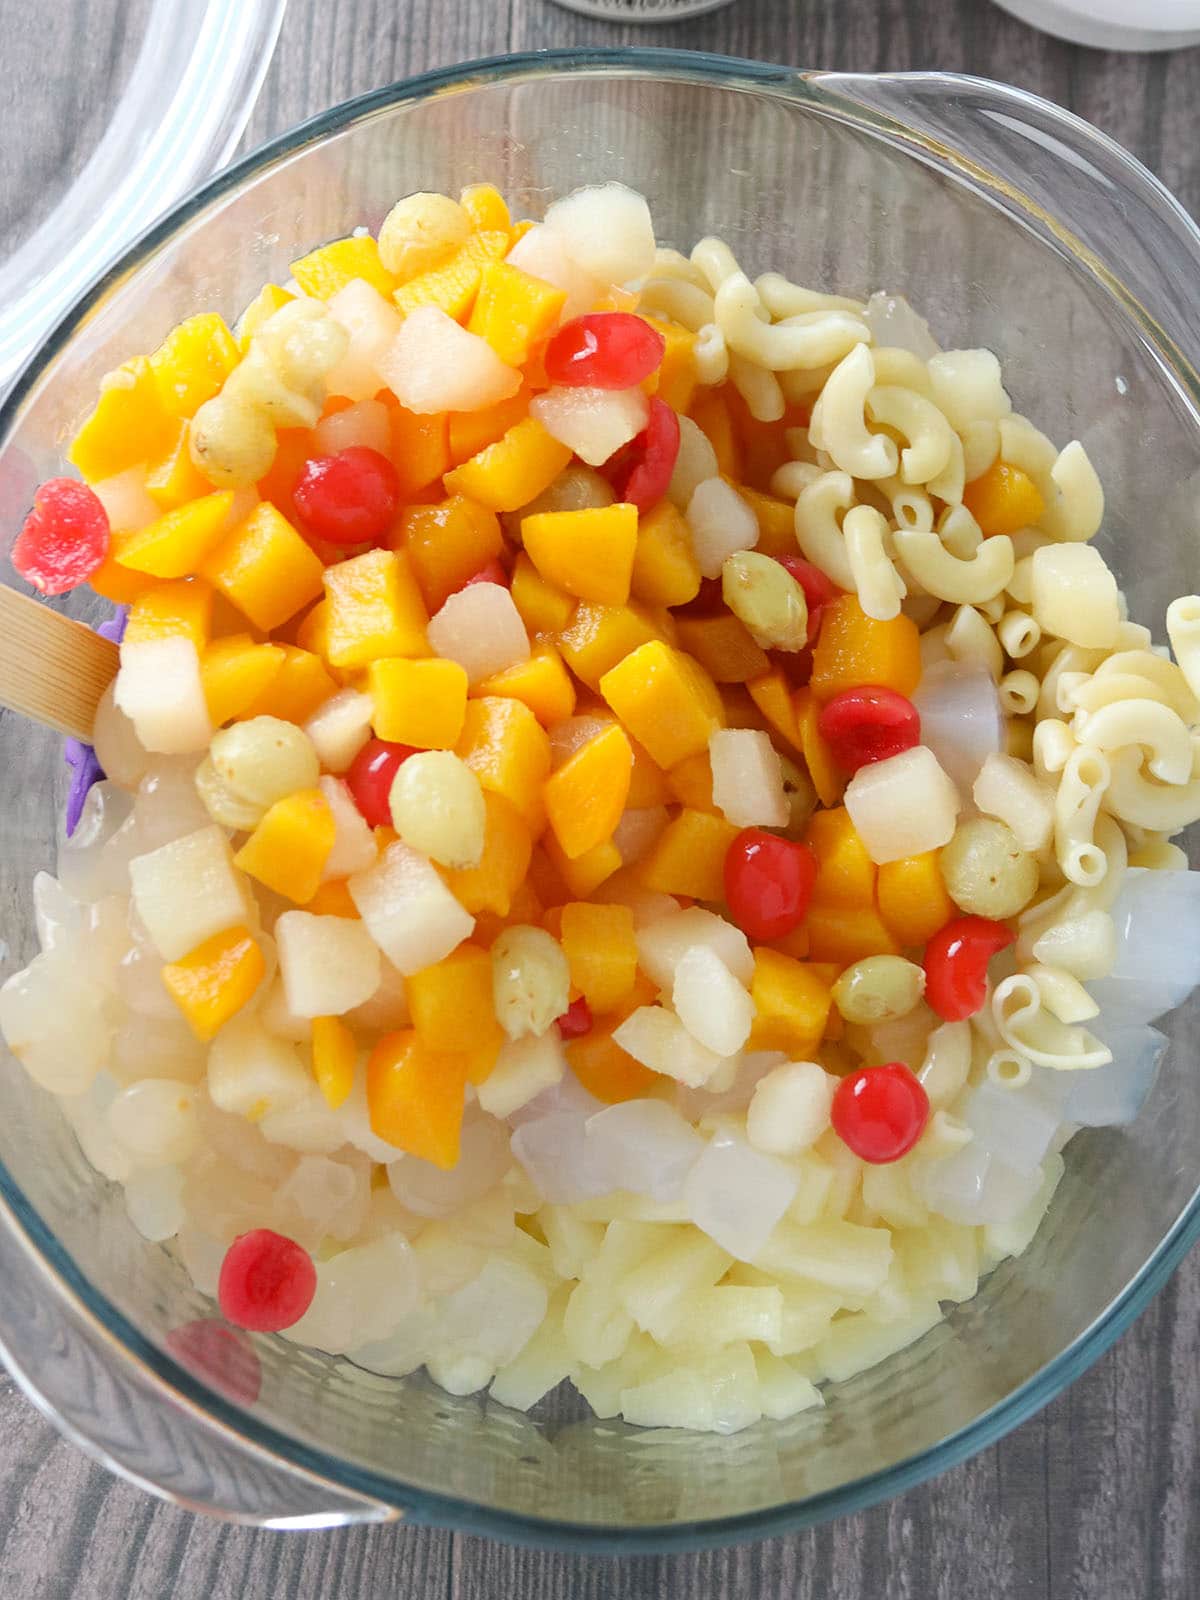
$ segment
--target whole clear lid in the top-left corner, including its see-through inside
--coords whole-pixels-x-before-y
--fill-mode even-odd
[[[0,392],[130,240],[230,157],[285,5],[133,0],[104,42],[53,19],[10,37],[0,147],[21,150],[37,198],[22,184],[19,214],[0,200]]]

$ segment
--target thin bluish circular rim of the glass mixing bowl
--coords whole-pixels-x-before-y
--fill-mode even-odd
[[[1168,202],[1176,216],[1181,216],[1187,222],[1200,251],[1200,230],[1197,230],[1184,208],[1122,146],[1091,123],[1042,96],[1030,94],[1011,85],[997,83],[990,78],[952,72],[840,74],[747,61],[738,56],[722,56],[707,51],[632,46],[586,46],[488,56],[397,80],[318,112],[251,150],[166,211],[122,253],[114,266],[98,275],[91,288],[75,301],[70,310],[40,341],[0,403],[0,448],[6,445],[24,400],[42,378],[43,370],[66,347],[93,309],[101,304],[117,283],[136,270],[160,245],[166,243],[181,227],[187,226],[213,200],[235,190],[246,179],[266,171],[278,160],[296,155],[307,146],[330,134],[341,133],[352,123],[394,106],[427,99],[440,91],[467,90],[475,83],[486,85],[522,78],[565,77],[568,72],[579,69],[595,72],[611,69],[616,74],[632,78],[659,77],[693,80],[723,88],[776,90],[781,94],[810,101],[814,110],[821,110],[824,104],[827,112],[842,117],[848,117],[853,107],[835,104],[832,99],[826,101],[821,93],[822,83],[837,85],[840,80],[862,82],[874,78],[890,83],[915,82],[958,88],[971,85],[987,88],[990,93],[1000,93],[1016,104],[1037,107],[1043,115],[1050,114],[1062,120],[1077,133],[1082,131],[1099,149],[1118,155],[1125,163],[1131,163],[1141,179],[1158,194],[1158,198]],[[907,134],[906,142],[914,138],[912,130],[907,130],[902,123],[890,122],[878,112],[870,112],[864,118],[864,125],[875,134],[883,131]],[[26,1198],[24,1190],[3,1162],[0,1162],[0,1226],[8,1226],[16,1234],[18,1242],[24,1246],[30,1264],[42,1275],[45,1285],[70,1306],[93,1338],[109,1344],[118,1358],[133,1362],[142,1368],[155,1386],[166,1386],[171,1390],[171,1398],[195,1414],[205,1426],[218,1429],[237,1445],[250,1446],[253,1451],[269,1456],[277,1466],[294,1467],[306,1475],[328,1482],[330,1486],[347,1493],[358,1493],[386,1507],[395,1507],[403,1520],[414,1525],[445,1526],[456,1531],[566,1552],[659,1554],[774,1538],[795,1533],[832,1517],[850,1515],[914,1488],[1000,1440],[1086,1371],[1165,1285],[1197,1238],[1200,1238],[1200,1189],[1192,1195],[1187,1206],[1179,1213],[1174,1224],[1163,1235],[1154,1253],[1142,1262],[1136,1275],[1094,1322],[1040,1371],[1034,1373],[1032,1378],[1019,1384],[1003,1400],[989,1406],[955,1434],[914,1456],[802,1501],[790,1501],[706,1522],[653,1523],[645,1526],[539,1518],[432,1490],[421,1490],[398,1478],[326,1454],[318,1446],[307,1445],[280,1427],[224,1400],[186,1368],[179,1366],[171,1355],[147,1339],[88,1280],[77,1266],[75,1258],[62,1248],[54,1232]],[[0,1354],[3,1354],[2,1347]],[[42,1403],[40,1397],[32,1392],[32,1384],[27,1379],[22,1379],[22,1387],[30,1398]],[[43,1403],[43,1410],[50,1411],[54,1421],[59,1421],[53,1414],[51,1406]],[[85,1443],[78,1435],[77,1442]],[[114,1466],[112,1462],[107,1464]]]

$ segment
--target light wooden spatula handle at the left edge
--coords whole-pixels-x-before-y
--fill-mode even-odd
[[[0,584],[0,706],[90,741],[117,662],[107,638]]]

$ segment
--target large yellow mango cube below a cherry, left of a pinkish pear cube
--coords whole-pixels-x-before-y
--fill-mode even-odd
[[[403,550],[368,550],[325,570],[328,659],[368,667],[382,656],[427,656],[429,613]]]

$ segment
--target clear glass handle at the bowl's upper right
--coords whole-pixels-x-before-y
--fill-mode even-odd
[[[1091,272],[1200,400],[1200,230],[1142,163],[1072,112],[984,78],[818,72],[877,133],[986,194]],[[963,154],[970,152],[970,154]],[[1120,262],[1120,278],[1104,266]]]

